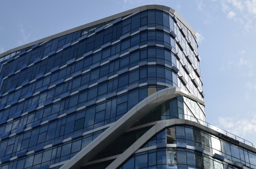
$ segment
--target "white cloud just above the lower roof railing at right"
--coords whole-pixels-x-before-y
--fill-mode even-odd
[[[256,135],[256,114],[244,114],[243,118],[219,118],[221,127],[235,135]]]

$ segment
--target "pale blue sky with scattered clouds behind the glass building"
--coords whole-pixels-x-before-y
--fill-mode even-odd
[[[256,145],[256,0],[3,0],[0,53],[149,4],[177,10],[197,32],[207,122]]]

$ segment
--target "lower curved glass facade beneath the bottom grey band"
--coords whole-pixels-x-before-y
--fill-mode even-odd
[[[143,151],[145,147],[148,149]],[[186,125],[164,129],[143,148],[122,164],[121,168],[256,167],[256,153]]]

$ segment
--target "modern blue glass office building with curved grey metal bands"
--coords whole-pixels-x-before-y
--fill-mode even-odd
[[[195,31],[134,8],[0,55],[1,168],[256,168],[205,122]]]

